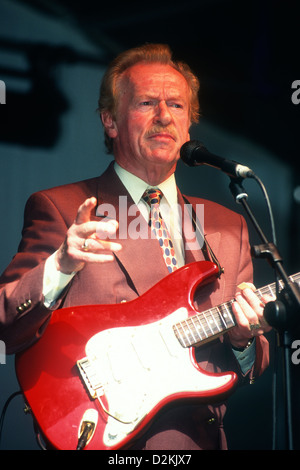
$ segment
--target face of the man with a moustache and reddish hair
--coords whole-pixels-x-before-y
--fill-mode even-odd
[[[185,78],[168,65],[130,67],[121,79],[110,134],[116,161],[142,178],[155,168],[172,173],[189,140],[189,96]]]

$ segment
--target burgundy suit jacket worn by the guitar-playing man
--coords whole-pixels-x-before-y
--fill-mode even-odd
[[[133,204],[111,164],[98,178],[64,185],[32,195],[25,208],[22,240],[18,253],[0,278],[0,339],[8,353],[30,346],[43,334],[54,310],[86,304],[110,304],[132,300],[168,275],[157,241],[151,238],[120,240],[121,251],[105,265],[86,265],[77,273],[58,301],[44,306],[42,294],[44,263],[58,249],[78,207],[91,196],[100,204],[115,207],[119,220],[119,196]],[[178,201],[184,200],[178,191]],[[252,281],[248,231],[241,215],[216,203],[199,198],[189,202],[204,204],[204,232],[214,254],[224,268],[215,283],[201,289],[195,299],[200,310],[232,299],[240,282]],[[99,217],[93,214],[94,220]],[[133,220],[129,216],[128,225]],[[186,263],[201,261],[201,249],[187,250]],[[225,338],[199,348],[197,360],[202,368],[221,372],[233,370],[242,382],[254,380],[268,364],[268,345],[264,337],[256,341],[256,361],[243,375]],[[225,448],[222,428],[225,405],[179,406],[156,420],[136,448],[143,449],[217,449]]]

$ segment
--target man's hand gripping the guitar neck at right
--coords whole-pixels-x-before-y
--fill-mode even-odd
[[[237,326],[228,332],[230,342],[235,348],[245,348],[251,338],[263,335],[272,328],[264,319],[264,307],[267,302],[274,300],[271,295],[261,299],[255,294],[253,284],[244,284],[235,296],[232,310]]]

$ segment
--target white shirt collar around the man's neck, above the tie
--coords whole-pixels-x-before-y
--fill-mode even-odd
[[[142,179],[133,175],[129,171],[122,168],[120,165],[118,165],[117,162],[114,163],[114,169],[135,204],[139,203],[147,188],[153,187],[147,184]],[[155,186],[155,188],[159,188],[162,191],[164,197],[166,198],[170,206],[172,206],[173,204],[177,204],[177,187],[174,173],[169,176],[169,178],[167,178],[165,181]]]

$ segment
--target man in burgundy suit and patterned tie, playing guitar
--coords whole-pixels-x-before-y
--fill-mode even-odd
[[[172,61],[167,46],[136,48],[111,64],[102,83],[99,112],[115,162],[99,178],[42,191],[27,202],[19,252],[1,278],[0,331],[8,352],[40,338],[58,308],[135,299],[173,268],[208,256],[220,263],[224,273],[205,286],[195,302],[203,310],[235,297],[237,326],[199,348],[199,364],[213,372],[234,370],[241,382],[254,380],[265,369],[268,347],[263,333],[269,327],[263,319],[264,303],[251,284],[245,221],[210,201],[184,199],[175,183],[180,148],[197,120],[198,87],[190,69]],[[152,235],[118,236],[124,215],[120,197],[126,199],[122,207],[127,222],[133,220],[130,208],[135,207],[146,233],[152,233],[151,211],[144,199],[148,188],[162,192],[160,206],[156,201],[162,214],[158,210],[157,217],[168,212],[164,207],[171,208],[162,244],[171,238],[167,243],[172,261],[169,256],[165,260]],[[203,246],[190,246],[186,227],[180,226],[185,204],[196,212],[197,205],[204,204]],[[112,220],[105,217],[107,207],[115,209]],[[248,284],[239,291],[242,282]],[[224,412],[224,404],[178,405],[155,420],[135,448],[226,448]]]

